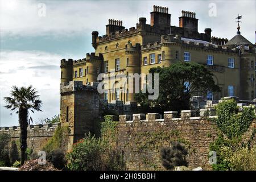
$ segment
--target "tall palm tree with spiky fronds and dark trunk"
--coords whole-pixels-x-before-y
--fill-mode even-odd
[[[17,86],[12,87],[10,94],[11,97],[4,97],[6,102],[6,108],[11,111],[15,111],[19,114],[19,126],[20,126],[20,151],[21,151],[21,163],[26,160],[26,149],[27,149],[27,126],[30,125],[30,121],[33,122],[30,111],[34,113],[40,110],[42,101],[39,100],[37,91],[32,88],[32,85],[27,88],[22,86],[18,88]]]

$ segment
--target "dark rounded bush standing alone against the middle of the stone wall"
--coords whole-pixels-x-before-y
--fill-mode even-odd
[[[170,170],[175,166],[188,166],[185,160],[188,151],[179,142],[172,142],[171,147],[163,147],[160,150],[160,156],[163,166]]]

